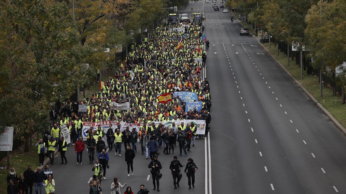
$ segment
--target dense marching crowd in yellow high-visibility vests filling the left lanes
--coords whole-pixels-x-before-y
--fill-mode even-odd
[[[184,28],[184,31],[170,31],[177,28]],[[90,194],[101,194],[101,182],[106,179],[110,152],[114,151],[113,153],[118,156],[125,155],[128,176],[131,176],[134,175],[133,160],[137,151],[140,151],[145,155],[143,157],[150,158],[148,168],[151,169],[154,190],[160,191],[159,180],[162,177],[160,173],[162,165],[158,161],[160,150],[163,149],[163,154],[174,154],[175,147],[179,146],[177,156],[188,156],[192,147],[196,145],[196,138],[204,139],[210,129],[210,86],[207,79],[203,80],[201,76],[207,56],[204,50],[205,40],[202,39],[200,31],[198,23],[167,24],[157,27],[152,39],[145,38],[136,47],[132,46],[124,65],[121,65],[114,77],[109,78],[104,84],[100,82],[100,91],[93,94],[90,99],[79,100],[73,104],[68,100],[62,106],[53,106],[50,113],[53,127],[50,132],[43,134],[43,138],[36,144],[39,165],[44,165],[45,156],[49,158],[49,164],[54,165],[56,149],[61,155],[60,164],[67,164],[65,152],[72,146],[76,153],[77,165],[83,165],[82,156],[87,151],[89,164],[93,164],[91,168],[93,177],[89,182]],[[202,58],[202,64],[200,61],[196,62],[194,58]],[[173,96],[175,91],[196,93],[202,108],[185,112],[186,104],[179,97]],[[171,100],[164,104],[158,103],[157,97],[162,94],[170,94]],[[112,99],[126,98],[129,98],[130,110],[111,110]],[[88,105],[87,111],[79,111],[80,104]],[[197,135],[197,126],[193,122],[174,122],[184,119],[205,120],[205,134]],[[110,125],[107,131],[100,126],[97,130],[90,127],[86,141],[83,140],[83,122],[108,120],[142,125],[131,131],[126,127],[122,132],[120,125],[117,127]],[[171,121],[172,124],[165,126],[162,124],[164,121]],[[158,125],[154,122],[158,122]],[[70,131],[70,144],[66,143],[60,133],[60,126],[64,124]],[[176,153],[178,151],[176,149]],[[177,156],[173,156],[169,166],[174,189],[180,186],[182,178],[180,168],[183,166],[191,189],[191,185],[194,187],[194,173],[198,167],[192,158],[188,158],[186,165],[181,164]],[[27,171],[18,177],[15,170],[11,169],[7,179],[10,194],[24,193],[24,191],[31,194],[33,185],[36,194],[42,193],[43,186],[46,193],[55,193],[53,172],[48,165],[43,169],[38,167],[36,172],[28,166]],[[119,194],[120,189],[126,185],[127,183],[119,183],[118,178],[113,178],[110,193]],[[140,185],[139,194],[148,192],[144,185]],[[131,187],[127,186],[125,193],[133,193]]]

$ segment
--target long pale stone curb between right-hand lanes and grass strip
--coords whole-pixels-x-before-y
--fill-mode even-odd
[[[309,98],[312,100],[312,102],[317,105],[329,118],[330,120],[334,123],[334,125],[336,125],[339,130],[342,132],[343,135],[346,135],[346,129],[333,117],[333,115],[331,115],[329,113],[329,111],[323,107],[321,105],[321,103],[318,102],[318,100],[312,96],[312,94],[310,94],[310,92],[304,87],[302,86],[302,84],[297,80],[295,79],[292,74],[280,63],[280,61],[278,61],[270,52],[269,50],[259,41],[257,41],[261,46],[262,48],[264,48],[266,50],[266,52],[277,62],[277,64],[280,65],[280,67],[285,70],[285,72],[289,75],[289,77],[299,85],[299,87],[309,96]]]

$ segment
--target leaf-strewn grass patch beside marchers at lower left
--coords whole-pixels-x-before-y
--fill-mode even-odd
[[[34,142],[36,142],[36,138],[33,138]],[[38,166],[37,147],[35,147],[35,144],[31,145],[29,152],[24,152],[24,145],[10,152],[10,167],[16,169],[18,177],[20,173],[24,173],[28,165],[31,165],[32,169],[36,169]],[[6,178],[9,172],[9,169],[7,169],[7,157],[0,161],[0,167],[4,167],[0,169],[0,194],[5,194],[7,193]]]

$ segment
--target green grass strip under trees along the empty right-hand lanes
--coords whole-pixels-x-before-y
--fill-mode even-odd
[[[287,56],[283,52],[276,55],[276,48],[274,44],[269,48],[269,43],[263,44],[275,58],[281,62],[282,65],[292,74],[292,76],[299,80],[299,82],[315,97],[323,107],[325,107],[330,114],[343,126],[346,127],[346,104],[341,104],[341,97],[334,96],[331,88],[322,89],[322,97],[320,97],[319,79],[316,75],[308,75],[303,71],[303,79],[300,80],[300,68],[295,65],[295,61],[290,59],[290,66],[287,65]]]

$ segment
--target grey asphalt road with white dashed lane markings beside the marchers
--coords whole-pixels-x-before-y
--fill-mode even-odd
[[[191,157],[199,167],[192,190],[187,189],[186,176],[180,188],[173,189],[169,163],[179,147],[174,155],[160,155],[160,192],[346,193],[345,137],[255,38],[239,36],[241,25],[230,21],[231,13],[222,13],[223,8],[212,11],[212,3],[203,1],[191,2],[179,13],[191,16],[191,6],[193,11],[204,10],[210,41],[206,68],[212,95],[210,139],[196,140],[192,153],[179,157],[182,164]],[[122,156],[109,152],[102,193],[110,193],[113,177],[128,183],[134,193],[140,184],[156,193],[148,179],[150,161],[137,151],[135,175],[127,177],[122,149]],[[88,153],[83,156],[83,166],[76,166],[73,147],[68,147],[67,165],[60,165],[60,157],[56,158],[51,168],[57,193],[88,193],[93,172]]]

